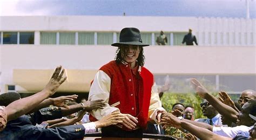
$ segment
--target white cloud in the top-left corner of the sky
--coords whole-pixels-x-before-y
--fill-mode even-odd
[[[46,16],[56,12],[56,8],[36,5],[36,1],[0,0],[0,16]]]

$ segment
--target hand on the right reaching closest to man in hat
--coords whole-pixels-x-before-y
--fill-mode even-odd
[[[168,114],[168,117],[163,117],[161,123],[165,125],[171,125],[172,127],[181,128],[181,121],[174,115]]]

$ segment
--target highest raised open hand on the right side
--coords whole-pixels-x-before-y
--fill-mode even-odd
[[[207,89],[195,78],[190,80],[197,94],[205,99],[206,94],[208,93]]]

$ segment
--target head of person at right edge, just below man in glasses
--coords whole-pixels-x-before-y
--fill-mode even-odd
[[[249,114],[256,116],[256,99],[249,100],[242,106],[241,111],[237,114],[237,125],[251,127],[255,120]]]

